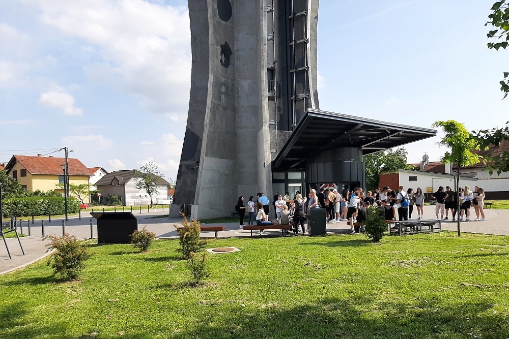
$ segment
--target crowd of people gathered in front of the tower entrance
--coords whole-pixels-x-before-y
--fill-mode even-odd
[[[438,191],[431,195],[436,199],[435,213],[438,220],[448,220],[448,213],[451,213],[451,219],[455,221],[457,214],[458,200],[460,200],[460,221],[470,221],[470,206],[473,204],[475,208],[476,221],[486,221],[484,213],[484,200],[486,194],[483,188],[475,187],[471,192],[468,186],[460,189],[458,192],[451,190],[447,186],[444,190],[442,186]],[[414,206],[417,212],[417,220],[424,218],[423,205],[425,195],[420,188],[414,192],[413,189],[404,189],[403,186],[398,188],[398,193],[388,186],[382,189],[377,188],[375,192],[368,191],[364,194],[361,188],[352,191],[344,189],[341,193],[337,189],[320,189],[311,190],[306,197],[302,197],[300,192],[296,192],[295,196],[290,197],[289,193],[274,195],[272,206],[276,219],[269,220],[270,201],[264,193],[258,193],[256,200],[253,196],[249,197],[247,203],[244,197],[239,197],[236,211],[239,213],[240,227],[243,228],[244,217],[248,213],[248,225],[293,225],[292,230],[302,234],[308,232],[305,229],[305,221],[307,215],[314,208],[325,208],[326,220],[329,223],[338,223],[346,221],[355,233],[355,225],[361,224],[366,220],[367,208],[374,206],[379,209],[380,215],[386,221],[406,221],[415,220],[412,218],[414,214]],[[445,213],[445,217],[444,217]],[[256,215],[256,217],[255,217]],[[464,215],[466,219],[464,219]]]

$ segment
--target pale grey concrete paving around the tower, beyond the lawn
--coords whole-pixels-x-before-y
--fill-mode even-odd
[[[425,206],[425,219],[436,219],[435,206]],[[178,237],[177,231],[175,230],[175,224],[179,224],[181,218],[153,218],[157,215],[161,217],[165,215],[167,211],[162,212],[151,212],[143,214],[135,214],[138,219],[138,227],[142,228],[147,226],[147,229],[151,232],[155,232],[159,238],[176,238]],[[416,213],[416,212],[415,212]],[[470,218],[475,219],[474,209],[471,208]],[[506,209],[485,209],[486,222],[470,221],[461,223],[462,232],[470,233],[483,233],[483,234],[496,234],[496,235],[509,235],[509,210]],[[416,215],[414,215],[415,217]],[[450,215],[449,215],[450,218]],[[92,233],[90,228],[90,222],[92,221]],[[203,224],[207,225],[207,224]],[[216,224],[217,225],[217,224]],[[220,237],[246,237],[250,235],[249,231],[244,231],[240,228],[238,222],[221,224],[226,226],[224,232],[219,232]],[[457,225],[452,221],[446,221],[442,223],[442,229],[449,231],[456,231]],[[18,232],[20,231],[18,226]],[[53,219],[51,223],[45,221],[45,234],[62,234],[62,221],[61,219]],[[91,219],[90,213],[83,212],[81,214],[81,220],[78,218],[71,218],[66,222],[65,231],[71,235],[75,235],[79,239],[90,238],[91,235],[97,237],[97,223],[95,219]],[[350,227],[346,222],[340,223],[328,223],[327,231],[331,233],[348,234],[350,233]],[[23,227],[23,233],[28,234],[28,228],[25,221]],[[280,235],[279,230],[267,230],[263,232],[263,236],[275,236]],[[11,251],[12,259],[9,259],[5,245],[0,240],[0,274],[12,271],[30,264],[41,257],[47,255],[46,244],[49,240],[42,239],[42,225],[41,221],[35,221],[34,225],[31,224],[31,235],[21,238],[21,244],[25,255],[21,253],[19,243],[16,238],[7,239],[9,250]],[[213,237],[214,232],[204,232],[202,237]],[[259,236],[258,232],[253,232],[253,236]]]

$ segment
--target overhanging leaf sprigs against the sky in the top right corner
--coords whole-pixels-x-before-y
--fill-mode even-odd
[[[492,26],[493,30],[488,32],[488,39],[491,41],[488,43],[488,49],[503,49],[507,48],[509,44],[509,5],[504,1],[498,1],[493,4],[492,13],[488,15],[490,19],[484,25]],[[509,72],[504,72],[504,79],[500,80],[500,90],[505,93],[504,98],[509,94]]]

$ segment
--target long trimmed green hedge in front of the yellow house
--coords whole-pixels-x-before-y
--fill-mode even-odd
[[[5,199],[2,203],[4,217],[31,217],[32,215],[59,215],[65,213],[64,197],[29,197]],[[75,198],[67,200],[67,211],[77,213],[79,201]]]

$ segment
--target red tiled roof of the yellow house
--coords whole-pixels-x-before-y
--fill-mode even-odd
[[[63,174],[62,166],[65,164],[65,158],[54,157],[33,157],[33,156],[13,156],[16,162],[19,162],[31,174]],[[9,164],[11,164],[11,161]],[[78,159],[68,158],[69,175],[90,176],[90,169],[83,165]]]

